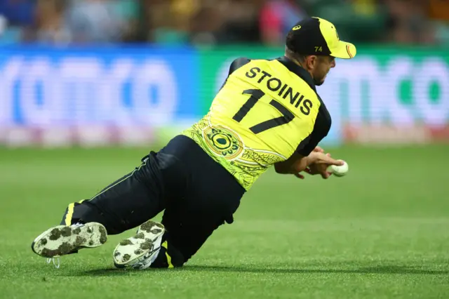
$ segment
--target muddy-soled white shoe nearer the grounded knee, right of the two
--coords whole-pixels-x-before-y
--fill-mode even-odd
[[[118,268],[132,267],[147,269],[161,250],[165,227],[159,222],[149,220],[140,225],[137,234],[124,239],[114,250],[114,265]]]

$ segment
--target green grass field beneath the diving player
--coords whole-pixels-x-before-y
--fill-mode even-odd
[[[60,269],[30,244],[147,150],[2,149],[0,298],[449,298],[448,152],[342,147],[344,178],[269,171],[185,267],[139,272],[112,263],[130,231]]]

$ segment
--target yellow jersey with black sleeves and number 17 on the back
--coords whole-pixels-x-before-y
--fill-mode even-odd
[[[307,156],[328,134],[330,115],[310,74],[286,57],[232,62],[192,138],[249,190],[270,166],[295,151]]]

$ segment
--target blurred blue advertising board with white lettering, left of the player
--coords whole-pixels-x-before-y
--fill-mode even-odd
[[[188,48],[0,49],[0,138],[9,145],[147,144],[199,112]]]

